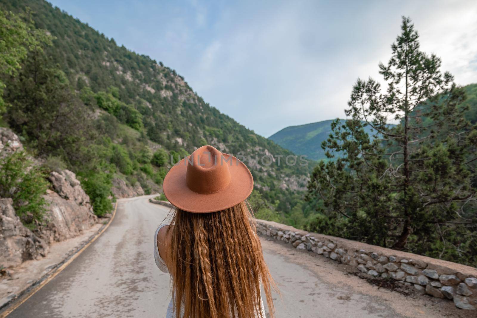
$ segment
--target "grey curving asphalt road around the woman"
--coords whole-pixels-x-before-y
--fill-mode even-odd
[[[170,280],[154,263],[153,236],[169,209],[147,198],[119,200],[103,235],[8,317],[165,317]],[[439,308],[364,286],[323,257],[261,239],[280,283],[282,299],[277,295],[275,300],[279,318],[438,317]]]

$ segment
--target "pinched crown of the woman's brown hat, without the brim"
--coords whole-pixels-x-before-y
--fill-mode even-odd
[[[227,158],[216,148],[198,148],[187,159],[186,185],[199,194],[212,194],[228,186],[230,171]]]

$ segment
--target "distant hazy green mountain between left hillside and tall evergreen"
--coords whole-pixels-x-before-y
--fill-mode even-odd
[[[295,154],[304,154],[312,160],[327,160],[321,143],[328,139],[331,130],[331,123],[334,120],[325,120],[317,123],[307,123],[298,126],[283,128],[278,133],[272,134],[269,139],[279,144],[283,148]],[[341,119],[341,123],[345,120]],[[372,134],[372,128],[367,126],[366,132]]]

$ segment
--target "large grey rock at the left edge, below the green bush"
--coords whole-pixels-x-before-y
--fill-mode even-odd
[[[15,267],[48,253],[48,245],[23,226],[12,200],[0,199],[0,267]]]

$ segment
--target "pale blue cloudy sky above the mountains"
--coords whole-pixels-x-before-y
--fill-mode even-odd
[[[118,45],[175,69],[211,106],[269,137],[345,118],[353,83],[381,80],[401,16],[459,85],[477,82],[477,1],[53,0]]]

